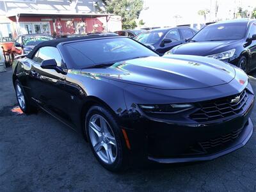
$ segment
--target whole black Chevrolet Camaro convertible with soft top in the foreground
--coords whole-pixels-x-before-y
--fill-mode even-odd
[[[138,162],[205,161],[252,136],[254,94],[239,68],[160,57],[122,36],[42,42],[13,64],[24,113],[44,109],[83,134],[108,170]]]

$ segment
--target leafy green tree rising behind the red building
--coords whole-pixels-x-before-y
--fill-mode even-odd
[[[122,17],[123,29],[136,28],[136,19],[143,10],[143,0],[103,0],[106,12]]]

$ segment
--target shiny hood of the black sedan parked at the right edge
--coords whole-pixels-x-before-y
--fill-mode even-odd
[[[215,42],[189,42],[173,48],[173,54],[190,54],[208,56],[219,52],[234,49],[236,44],[241,45],[241,40],[215,41]]]

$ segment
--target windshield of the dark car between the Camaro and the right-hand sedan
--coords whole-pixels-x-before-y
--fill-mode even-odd
[[[142,44],[156,44],[164,35],[164,31],[147,31],[136,36],[134,39]]]

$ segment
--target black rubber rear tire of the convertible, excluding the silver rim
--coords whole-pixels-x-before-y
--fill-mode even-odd
[[[28,98],[26,97],[26,93],[24,92],[24,89],[23,89],[23,87],[21,86],[20,81],[19,81],[18,79],[15,81],[14,86],[15,86],[14,88],[15,88],[15,93],[16,93],[17,102],[18,102],[18,104],[19,104],[20,109],[23,111],[23,113],[26,113],[26,114],[35,113],[35,112],[36,112],[36,108],[35,108],[35,106],[32,106],[31,104],[29,104]],[[22,106],[20,105],[20,102],[19,102],[19,99],[18,99],[18,95],[17,95],[17,86],[20,87],[20,90],[21,90],[21,92],[22,92],[23,95],[24,95],[24,107],[22,107]]]

